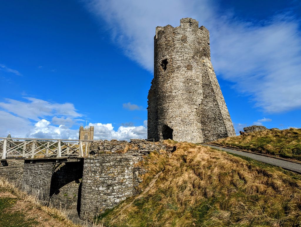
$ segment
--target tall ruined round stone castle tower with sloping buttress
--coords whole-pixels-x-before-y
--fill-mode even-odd
[[[203,143],[235,136],[210,60],[209,31],[183,18],[156,27],[147,138]]]

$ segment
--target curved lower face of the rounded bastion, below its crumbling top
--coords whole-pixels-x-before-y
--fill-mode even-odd
[[[92,219],[132,196],[133,156],[127,153],[98,153],[85,158],[80,218]]]

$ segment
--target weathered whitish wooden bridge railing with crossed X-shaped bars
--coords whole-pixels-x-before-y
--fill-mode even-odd
[[[85,157],[92,141],[0,137],[0,159]]]

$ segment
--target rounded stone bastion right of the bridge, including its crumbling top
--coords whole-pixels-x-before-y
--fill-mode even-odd
[[[80,217],[91,218],[133,194],[138,194],[140,176],[147,170],[135,163],[147,159],[152,151],[170,151],[163,143],[133,139],[95,140],[89,158],[84,160]]]

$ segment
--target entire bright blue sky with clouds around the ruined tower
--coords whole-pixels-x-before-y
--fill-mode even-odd
[[[301,127],[299,1],[2,1],[0,136],[146,137],[156,26],[192,17],[236,131]]]

